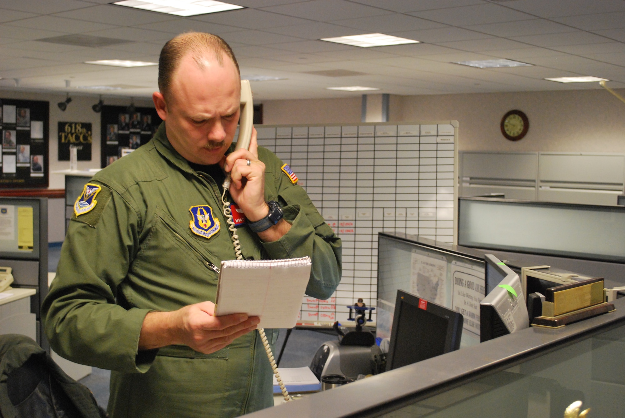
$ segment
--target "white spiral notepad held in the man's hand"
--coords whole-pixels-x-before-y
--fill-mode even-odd
[[[259,316],[258,328],[293,328],[311,273],[310,257],[221,262],[216,316]]]

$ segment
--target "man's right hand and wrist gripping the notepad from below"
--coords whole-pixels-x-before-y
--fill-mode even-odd
[[[247,314],[214,316],[215,304],[201,302],[171,312],[150,312],[143,320],[139,350],[184,344],[209,354],[256,329],[260,319]]]

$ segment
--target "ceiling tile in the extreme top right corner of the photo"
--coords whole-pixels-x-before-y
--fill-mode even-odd
[[[506,1],[506,7],[534,14],[537,17],[576,16],[598,12],[625,11],[622,0],[514,0]]]

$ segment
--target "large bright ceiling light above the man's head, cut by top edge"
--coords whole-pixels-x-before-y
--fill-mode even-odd
[[[214,0],[126,0],[116,1],[113,4],[153,12],[175,14],[176,16],[196,16],[198,14],[244,9],[243,6]]]

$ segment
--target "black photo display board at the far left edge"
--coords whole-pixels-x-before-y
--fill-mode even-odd
[[[46,188],[49,102],[2,99],[0,187]]]

